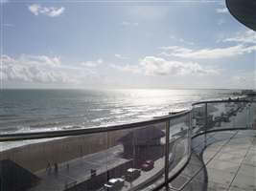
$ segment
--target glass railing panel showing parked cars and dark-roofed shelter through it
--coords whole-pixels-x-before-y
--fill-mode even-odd
[[[147,190],[164,181],[165,123],[108,132],[108,182],[122,190]]]

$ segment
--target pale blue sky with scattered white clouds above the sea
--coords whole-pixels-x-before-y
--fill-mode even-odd
[[[0,2],[1,88],[255,88],[224,1]]]

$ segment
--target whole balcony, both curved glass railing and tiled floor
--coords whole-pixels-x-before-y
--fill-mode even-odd
[[[1,135],[1,191],[253,190],[254,112],[247,97],[124,125]]]

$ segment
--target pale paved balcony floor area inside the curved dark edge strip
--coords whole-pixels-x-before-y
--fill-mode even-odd
[[[218,133],[215,136],[218,137]],[[255,131],[240,131],[230,139],[210,145],[203,152],[203,161],[207,168],[208,190],[256,190]]]

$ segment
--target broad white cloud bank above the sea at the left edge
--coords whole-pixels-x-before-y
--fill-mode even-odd
[[[70,69],[61,65],[58,56],[26,55],[17,58],[2,55],[2,77],[14,83],[78,83]]]

